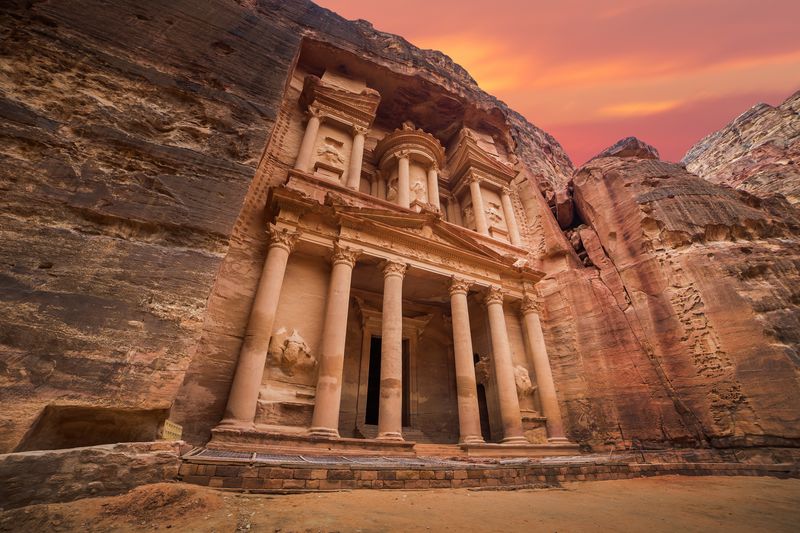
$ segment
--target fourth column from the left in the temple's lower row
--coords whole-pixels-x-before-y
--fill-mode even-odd
[[[472,334],[469,327],[467,292],[470,282],[453,277],[450,284],[450,309],[453,314],[453,351],[456,362],[459,442],[483,442],[478,411],[478,387],[472,360]]]

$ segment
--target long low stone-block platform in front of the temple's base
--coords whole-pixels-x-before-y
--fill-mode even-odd
[[[341,489],[526,488],[567,481],[657,475],[800,477],[796,463],[706,462],[713,456],[660,456],[678,462],[640,462],[642,454],[545,458],[440,458],[283,455],[198,449],[183,456],[178,479],[252,492]],[[705,460],[703,460],[705,459]]]

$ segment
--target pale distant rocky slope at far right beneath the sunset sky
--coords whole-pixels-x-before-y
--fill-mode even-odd
[[[781,105],[758,104],[712,133],[683,158],[712,183],[800,202],[800,91]]]

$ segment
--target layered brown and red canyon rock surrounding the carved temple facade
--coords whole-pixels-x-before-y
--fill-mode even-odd
[[[0,453],[146,440],[170,410],[207,438],[265,253],[275,183],[257,169],[303,38],[415,77],[418,100],[451,95],[421,113],[479,109],[510,132],[572,439],[800,442],[785,201],[635,150],[569,185],[558,143],[447,56],[310,2],[20,1],[0,17]],[[568,187],[581,255],[548,207]]]

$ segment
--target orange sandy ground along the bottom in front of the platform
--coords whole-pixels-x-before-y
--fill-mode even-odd
[[[664,476],[518,491],[246,495],[184,484],[0,513],[0,531],[798,531],[800,480]]]

